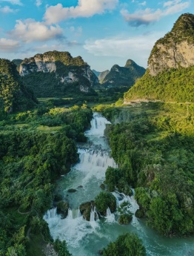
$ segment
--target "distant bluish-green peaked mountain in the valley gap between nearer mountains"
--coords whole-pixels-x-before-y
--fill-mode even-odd
[[[144,68],[138,66],[133,60],[128,59],[124,67],[113,65],[113,68],[104,77],[103,85],[111,87],[127,86],[130,88],[134,85],[136,79],[143,76],[144,73]]]

